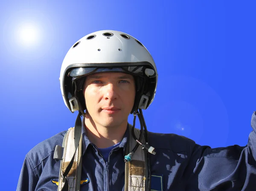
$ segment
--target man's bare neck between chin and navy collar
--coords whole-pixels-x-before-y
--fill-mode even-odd
[[[98,148],[108,148],[122,141],[128,120],[118,125],[102,126],[86,115],[84,123],[89,140]]]

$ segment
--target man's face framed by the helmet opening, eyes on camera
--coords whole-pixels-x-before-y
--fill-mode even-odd
[[[134,77],[122,72],[99,72],[87,76],[84,98],[87,113],[96,125],[127,125],[135,99]]]

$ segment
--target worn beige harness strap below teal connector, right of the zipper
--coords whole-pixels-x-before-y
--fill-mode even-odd
[[[129,124],[130,125],[130,124]],[[130,140],[127,145],[126,154],[130,153],[136,141],[132,136],[132,125],[130,125]],[[140,136],[140,130],[134,128],[136,137]],[[143,143],[145,139],[143,136]],[[139,146],[132,157],[130,162],[125,162],[125,191],[146,191],[145,190],[145,181],[146,181],[146,150],[142,150],[142,147]]]

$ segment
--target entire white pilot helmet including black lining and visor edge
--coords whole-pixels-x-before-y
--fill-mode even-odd
[[[121,71],[134,75],[137,92],[131,113],[138,108],[146,109],[153,102],[158,74],[151,54],[131,35],[103,30],[82,37],[63,60],[61,94],[71,112],[83,112],[86,109],[81,91],[84,77],[102,71]]]

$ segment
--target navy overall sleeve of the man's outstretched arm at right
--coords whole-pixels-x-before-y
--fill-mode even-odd
[[[246,146],[210,148],[195,144],[187,166],[186,190],[256,191],[256,112]]]

